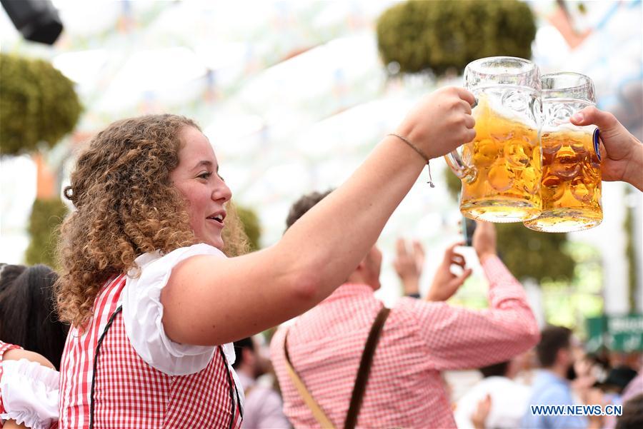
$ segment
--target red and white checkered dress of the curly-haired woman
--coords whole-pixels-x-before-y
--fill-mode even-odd
[[[189,375],[166,375],[136,353],[119,306],[125,280],[106,282],[83,333],[69,330],[60,428],[240,428],[239,397],[221,346],[206,368]]]

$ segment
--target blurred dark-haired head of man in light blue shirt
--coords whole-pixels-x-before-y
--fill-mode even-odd
[[[547,326],[536,346],[538,360],[543,368],[569,371],[576,360],[572,330],[563,326]]]

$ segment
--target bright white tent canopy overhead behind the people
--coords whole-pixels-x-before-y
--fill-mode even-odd
[[[379,139],[394,131],[414,101],[447,83],[427,76],[387,79],[374,26],[394,3],[56,0],[64,33],[54,46],[23,41],[0,11],[1,50],[50,59],[76,82],[85,106],[76,133],[95,133],[116,119],[161,111],[196,119],[214,145],[234,198],[259,214],[262,243],[269,246],[281,236],[296,198],[339,186]],[[597,80],[599,97],[615,109],[619,88],[636,89],[641,79],[642,26],[634,25],[636,16],[640,21],[640,1],[619,4],[616,11],[594,8],[592,19],[603,24],[589,23],[598,31],[587,48],[570,52],[542,20],[534,43],[534,61],[547,69],[573,64],[602,79]],[[613,60],[609,66],[594,61],[596,50],[602,52],[600,61]],[[632,76],[639,80],[623,84]],[[640,126],[640,111],[631,120]],[[71,141],[49,154],[50,163],[64,164],[63,181]],[[6,241],[16,244],[13,249],[26,247],[24,228],[34,198],[24,186],[34,186],[28,164],[26,158],[3,160],[3,261],[20,261],[5,251]],[[14,181],[7,168],[21,169],[29,181]],[[432,161],[437,187],[425,185],[423,175],[382,234],[382,296],[389,303],[398,295],[391,268],[397,236],[417,238],[427,247],[425,287],[444,248],[458,240],[459,212],[447,194],[444,168],[442,159]],[[622,195],[622,189],[614,193]],[[611,210],[606,207],[606,221]],[[614,223],[575,239],[596,243],[617,233],[622,229]],[[462,293],[477,295],[483,283],[478,277]]]

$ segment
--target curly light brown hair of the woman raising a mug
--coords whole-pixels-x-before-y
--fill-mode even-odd
[[[179,165],[181,128],[199,126],[176,115],[111,123],[80,154],[64,196],[76,207],[61,225],[56,304],[62,321],[82,326],[114,275],[135,268],[142,253],[169,253],[196,243],[188,203],[170,179]],[[246,253],[234,205],[226,206],[224,253]]]

